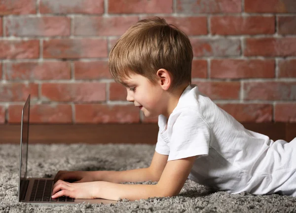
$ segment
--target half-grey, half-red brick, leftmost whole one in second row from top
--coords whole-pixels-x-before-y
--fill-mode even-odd
[[[6,36],[70,36],[71,19],[65,16],[9,17]]]

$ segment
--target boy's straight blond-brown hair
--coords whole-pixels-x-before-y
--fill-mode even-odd
[[[132,25],[112,47],[109,70],[117,83],[131,73],[142,75],[152,83],[157,70],[172,75],[170,88],[191,84],[192,46],[186,34],[159,17],[143,19]]]

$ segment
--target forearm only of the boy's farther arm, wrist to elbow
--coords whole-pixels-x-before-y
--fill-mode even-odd
[[[97,179],[112,183],[158,181],[149,168],[124,171],[98,171]]]

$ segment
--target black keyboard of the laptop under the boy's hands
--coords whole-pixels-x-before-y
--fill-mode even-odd
[[[51,198],[53,180],[34,180],[30,201],[45,202],[74,202],[74,198],[62,196],[56,199]]]

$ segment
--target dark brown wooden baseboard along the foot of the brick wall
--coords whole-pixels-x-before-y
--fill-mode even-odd
[[[270,139],[290,142],[296,123],[242,123]],[[141,143],[155,144],[157,124],[30,125],[30,143]],[[20,143],[20,125],[0,125],[0,143]]]

